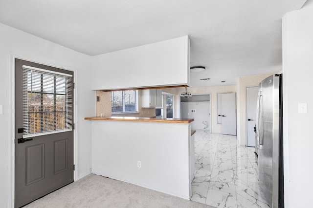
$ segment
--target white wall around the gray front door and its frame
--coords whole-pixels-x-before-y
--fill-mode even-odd
[[[8,113],[11,92],[9,87],[9,52],[27,57],[29,60],[43,64],[66,68],[77,72],[77,118],[76,129],[78,134],[78,177],[89,173],[91,164],[91,123],[84,117],[94,114],[95,98],[90,89],[90,57],[72,51],[47,40],[32,36],[20,30],[0,23],[0,105],[3,105],[3,114],[0,114],[0,207],[13,206],[9,201],[8,193],[8,121],[12,114]],[[14,109],[12,109],[14,113]],[[13,158],[14,160],[14,158]]]

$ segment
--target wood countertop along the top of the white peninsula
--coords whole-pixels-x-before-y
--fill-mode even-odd
[[[191,123],[193,118],[151,118],[151,117],[85,117],[85,120],[99,120],[99,121],[141,121],[141,122],[159,122],[159,123]]]

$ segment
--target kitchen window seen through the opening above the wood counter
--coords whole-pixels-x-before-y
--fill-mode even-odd
[[[138,90],[112,91],[112,114],[138,113]]]

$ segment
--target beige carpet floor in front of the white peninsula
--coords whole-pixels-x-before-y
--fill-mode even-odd
[[[95,174],[69,184],[25,208],[213,208]]]

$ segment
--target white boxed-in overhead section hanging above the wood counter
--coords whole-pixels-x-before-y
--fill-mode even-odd
[[[92,90],[189,85],[188,36],[91,57]]]

